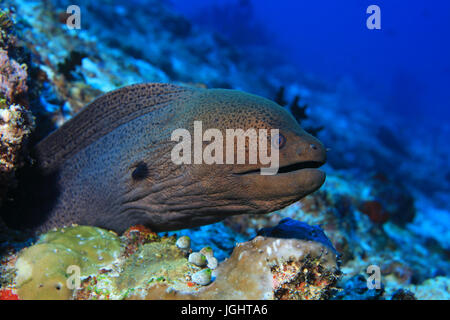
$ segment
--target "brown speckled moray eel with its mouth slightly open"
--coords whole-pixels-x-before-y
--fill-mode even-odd
[[[192,132],[194,121],[222,132],[279,129],[278,173],[259,174],[259,163],[174,164],[171,133]],[[196,227],[281,209],[325,180],[317,169],[326,160],[322,143],[276,103],[235,90],[123,87],[94,100],[35,149],[45,181],[38,189],[46,195],[35,199],[33,219],[16,220],[33,220],[37,232],[70,224],[119,233],[136,224],[154,231]]]

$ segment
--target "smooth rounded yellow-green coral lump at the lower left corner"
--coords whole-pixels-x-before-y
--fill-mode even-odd
[[[17,258],[18,295],[21,299],[70,299],[74,290],[67,285],[69,266],[79,267],[80,277],[87,277],[111,263],[120,251],[117,235],[100,228],[73,226],[44,234]]]

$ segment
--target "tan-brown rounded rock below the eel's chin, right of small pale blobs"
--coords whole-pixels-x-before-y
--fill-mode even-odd
[[[286,223],[294,224],[293,220]],[[292,236],[296,237],[294,233]],[[257,236],[236,245],[230,258],[213,271],[215,280],[210,285],[194,293],[158,285],[149,288],[145,298],[326,299],[334,292],[339,276],[337,255],[328,245],[311,240]]]

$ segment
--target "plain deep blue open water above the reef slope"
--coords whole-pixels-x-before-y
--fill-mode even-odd
[[[172,3],[179,12],[235,44],[271,48],[299,72],[313,73],[331,85],[351,77],[386,112],[414,124],[426,121],[436,127],[450,119],[448,1]],[[366,27],[366,9],[372,4],[381,9],[381,30]],[[212,14],[212,7],[218,14]]]

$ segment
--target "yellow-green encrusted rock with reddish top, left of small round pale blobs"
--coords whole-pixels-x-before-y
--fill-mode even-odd
[[[175,237],[161,238],[142,226],[121,237],[95,227],[57,229],[9,255],[0,284],[20,299],[123,299],[159,283],[183,291],[206,284],[192,278],[210,269],[189,263],[175,243]],[[79,268],[78,288],[74,268]]]

